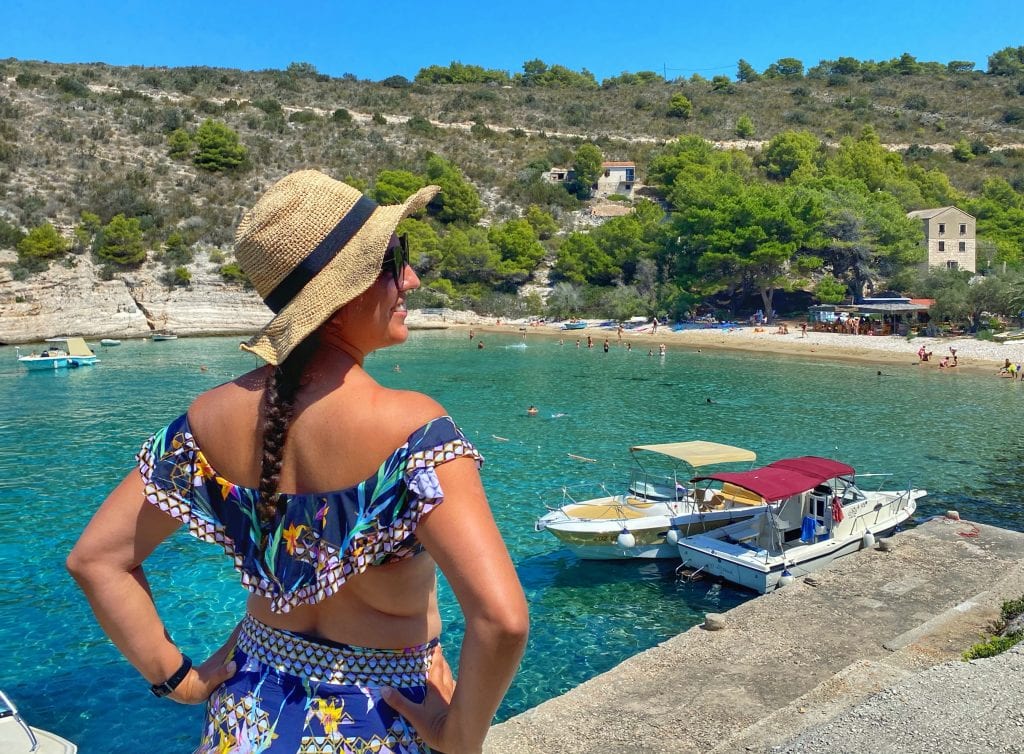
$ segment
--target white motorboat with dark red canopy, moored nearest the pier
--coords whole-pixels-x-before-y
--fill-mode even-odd
[[[775,461],[698,479],[729,484],[770,503],[758,515],[712,532],[679,531],[681,569],[709,573],[762,594],[826,568],[891,534],[928,493],[862,491],[852,466],[816,456]],[[863,476],[886,476],[864,474]]]

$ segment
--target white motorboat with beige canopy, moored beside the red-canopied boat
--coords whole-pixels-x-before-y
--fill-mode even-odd
[[[675,558],[678,549],[666,539],[672,518],[690,516],[694,528],[714,529],[749,518],[764,505],[760,498],[734,488],[698,499],[684,484],[699,467],[749,464],[757,459],[753,451],[693,441],[641,445],[630,452],[634,469],[625,494],[612,494],[606,485],[563,487],[558,491],[561,498],[557,505],[549,505],[550,510],[535,522],[535,530],[551,532],[585,559]],[[641,463],[644,453],[670,459],[671,473],[648,471]],[[718,497],[713,500],[714,495]]]

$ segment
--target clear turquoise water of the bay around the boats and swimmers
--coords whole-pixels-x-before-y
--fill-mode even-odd
[[[574,336],[564,346],[531,338],[526,348],[513,335],[482,337],[480,350],[465,332],[414,333],[367,366],[387,385],[438,399],[486,458],[484,484],[532,618],[502,718],[751,596],[679,584],[672,563],[580,561],[534,532],[539,492],[622,480],[631,445],[705,438],[765,461],[835,456],[861,472],[895,472],[890,485],[927,488],[919,520],[956,508],[1024,530],[1021,383],[911,368],[909,350],[908,366],[884,367],[891,376],[879,377],[873,365],[692,349],[663,360],[646,347],[577,349]],[[96,627],[63,558],[145,436],[255,361],[226,338],[97,350],[95,368],[30,374],[13,348],[0,348],[0,687],[30,721],[75,740],[83,754],[190,751],[201,708],[150,696]],[[525,415],[530,404],[540,416]],[[168,629],[194,658],[241,615],[244,593],[219,548],[175,535],[146,572]],[[441,602],[442,639],[454,647],[461,617],[446,590]]]

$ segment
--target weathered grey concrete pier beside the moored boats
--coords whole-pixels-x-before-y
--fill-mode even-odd
[[[485,751],[771,751],[958,659],[991,633],[1004,600],[1024,594],[1024,534],[936,518],[891,544],[752,599],[724,614],[721,630],[694,627],[496,725]]]

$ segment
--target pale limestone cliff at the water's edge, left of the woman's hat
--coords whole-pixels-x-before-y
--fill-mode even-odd
[[[88,338],[253,333],[270,319],[255,292],[227,283],[204,254],[189,265],[186,287],[168,287],[165,269],[146,263],[104,281],[87,255],[66,257],[25,281],[11,278],[0,251],[0,343],[28,343],[59,335]]]

